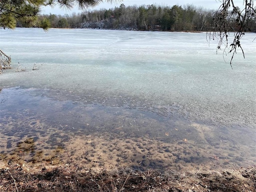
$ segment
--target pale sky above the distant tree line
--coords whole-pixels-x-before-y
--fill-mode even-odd
[[[164,5],[164,6],[170,6],[172,7],[173,5],[181,5],[184,6],[186,4],[193,4],[194,6],[197,7],[204,7],[206,9],[218,9],[221,3],[219,0],[123,0],[121,3],[123,3],[125,6],[132,6],[134,4],[140,6],[140,5],[151,5],[151,4],[156,4],[156,5]],[[121,3],[117,4],[109,4],[109,3],[102,3],[94,8],[88,8],[88,10],[92,9],[101,9],[101,8],[114,8],[119,7]],[[242,6],[243,0],[240,0],[239,3],[237,3],[237,6]],[[72,10],[66,11],[66,10],[61,10],[56,6],[55,8],[47,7],[44,8],[42,11],[42,14],[72,14],[73,12],[82,12],[81,10],[78,10],[78,8],[73,8]]]

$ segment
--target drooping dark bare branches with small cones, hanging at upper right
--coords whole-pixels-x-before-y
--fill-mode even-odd
[[[256,6],[254,0],[244,0],[243,7],[238,7],[234,3],[234,0],[219,0],[222,5],[214,13],[214,18],[210,25],[210,31],[208,32],[208,39],[219,38],[217,52],[224,45],[225,49],[223,53],[228,50],[232,53],[230,60],[230,66],[232,67],[232,60],[236,50],[240,48],[244,56],[244,50],[241,46],[241,39],[246,32],[251,32],[250,21],[256,19]],[[234,33],[232,42],[228,41],[230,33]]]

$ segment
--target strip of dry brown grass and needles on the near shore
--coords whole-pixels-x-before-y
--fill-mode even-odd
[[[0,174],[0,191],[5,192],[253,192],[256,188],[256,168],[163,174],[152,170],[80,169],[70,165],[12,165],[0,169]]]

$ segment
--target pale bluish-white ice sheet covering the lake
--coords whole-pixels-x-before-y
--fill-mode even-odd
[[[69,90],[99,102],[122,96],[137,106],[146,101],[148,108],[178,105],[192,120],[256,127],[255,34],[246,34],[246,58],[238,51],[232,70],[205,33],[25,28],[0,33],[1,49],[14,66],[1,74],[1,88]],[[18,62],[28,72],[15,73]],[[43,66],[32,71],[34,63]]]

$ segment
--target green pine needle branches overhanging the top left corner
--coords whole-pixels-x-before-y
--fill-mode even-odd
[[[106,0],[106,2],[120,2],[122,0]],[[16,27],[17,21],[25,23],[26,26],[36,24],[37,16],[40,13],[42,6],[56,6],[60,8],[73,8],[78,5],[81,10],[90,6],[96,6],[103,0],[0,0],[0,28]],[[42,20],[39,27],[47,29],[50,23]]]

